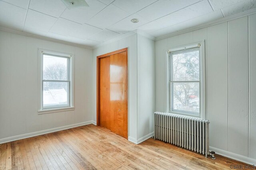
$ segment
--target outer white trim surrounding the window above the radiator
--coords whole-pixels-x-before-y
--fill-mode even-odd
[[[170,57],[170,53],[174,52],[174,51],[180,51],[182,49],[192,49],[195,47],[199,47],[199,61],[200,61],[200,111],[199,111],[199,115],[194,115],[191,113],[185,113],[185,112],[179,112],[179,111],[172,111],[171,107],[172,107],[172,87],[171,87],[171,75],[170,75],[170,70],[172,69],[171,67],[171,57]],[[206,88],[205,88],[205,52],[204,52],[204,41],[199,41],[199,42],[195,42],[195,43],[191,43],[191,44],[186,44],[186,45],[180,45],[178,47],[171,47],[168,48],[166,50],[166,56],[167,56],[167,111],[168,113],[174,113],[174,114],[178,114],[178,115],[186,115],[189,117],[199,117],[202,119],[205,119],[206,116],[206,100],[205,100],[205,93],[206,93]],[[191,81],[193,82],[193,81]]]

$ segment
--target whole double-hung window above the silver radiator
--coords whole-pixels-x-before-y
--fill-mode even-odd
[[[204,72],[201,44],[168,51],[169,112],[202,117]]]

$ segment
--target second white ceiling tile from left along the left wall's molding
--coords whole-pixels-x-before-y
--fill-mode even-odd
[[[48,32],[57,18],[28,9],[25,27]]]

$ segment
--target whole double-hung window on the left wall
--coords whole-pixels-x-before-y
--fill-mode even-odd
[[[73,108],[73,56],[40,51],[39,111]]]

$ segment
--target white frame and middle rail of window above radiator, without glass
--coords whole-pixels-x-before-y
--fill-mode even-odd
[[[200,70],[200,76],[199,76],[199,81],[172,81],[172,57],[171,53],[173,52],[179,52],[179,51],[186,51],[188,49],[193,49],[193,48],[199,48],[199,70]],[[178,47],[173,47],[169,48],[167,50],[167,91],[168,91],[168,97],[167,97],[167,110],[169,113],[174,113],[178,115],[186,115],[190,117],[199,117],[202,119],[205,119],[205,54],[204,54],[204,41],[192,43],[192,44],[187,44],[187,45],[181,45]],[[172,84],[173,82],[199,82],[199,91],[200,91],[200,111],[199,114],[193,114],[193,112],[190,111],[180,111],[180,110],[175,110],[172,109],[172,101],[173,101],[173,88]]]

